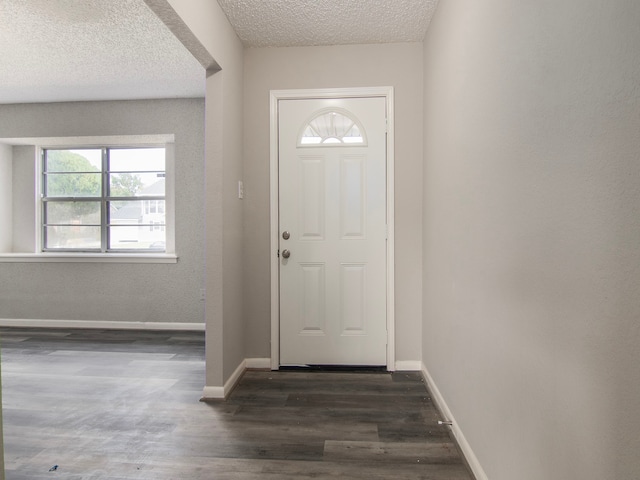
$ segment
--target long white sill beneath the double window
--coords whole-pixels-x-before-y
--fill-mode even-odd
[[[170,253],[0,253],[0,263],[177,263]]]

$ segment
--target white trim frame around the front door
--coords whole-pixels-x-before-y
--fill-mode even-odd
[[[271,90],[270,177],[271,177],[271,369],[280,368],[280,225],[278,218],[278,100],[307,98],[383,97],[387,109],[387,370],[395,370],[394,292],[394,130],[393,87],[324,88],[313,90]]]

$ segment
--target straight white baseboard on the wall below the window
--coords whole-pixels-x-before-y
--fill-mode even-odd
[[[109,330],[182,330],[203,332],[204,323],[179,322],[114,322],[108,320],[47,320],[0,318],[0,327],[19,328],[99,328]]]

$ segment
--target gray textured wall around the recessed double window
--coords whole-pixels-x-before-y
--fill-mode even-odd
[[[151,134],[175,134],[178,263],[0,263],[0,318],[203,323],[204,101],[0,107],[0,138]]]

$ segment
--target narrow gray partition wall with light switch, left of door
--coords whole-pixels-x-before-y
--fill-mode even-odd
[[[161,3],[157,0],[153,3]],[[220,387],[242,363],[244,309],[242,288],[243,47],[217,2],[168,0],[169,27],[181,23],[213,57],[221,71],[208,72],[206,93],[206,325],[207,387]],[[228,392],[225,392],[228,393]]]

